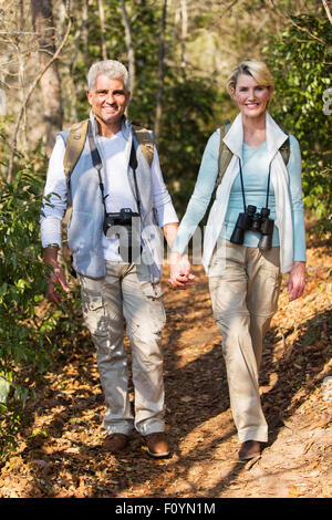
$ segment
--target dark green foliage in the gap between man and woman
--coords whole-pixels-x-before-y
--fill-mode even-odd
[[[179,217],[194,190],[207,139],[219,126],[217,102],[217,92],[204,77],[170,76],[166,83],[159,158]]]

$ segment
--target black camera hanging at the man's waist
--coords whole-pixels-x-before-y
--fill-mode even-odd
[[[120,239],[118,252],[124,262],[132,263],[139,259],[142,252],[139,223],[139,214],[132,211],[131,208],[122,208],[117,214],[105,215],[103,231],[106,237],[116,236]]]

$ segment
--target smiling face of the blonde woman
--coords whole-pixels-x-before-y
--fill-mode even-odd
[[[260,85],[251,75],[240,74],[232,98],[243,116],[259,117],[266,113],[272,92],[272,86]]]

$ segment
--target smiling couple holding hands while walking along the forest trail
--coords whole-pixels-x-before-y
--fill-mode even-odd
[[[245,61],[229,75],[227,89],[239,113],[226,129],[218,128],[209,137],[180,225],[151,133],[145,133],[142,145],[139,128],[125,115],[131,98],[125,66],[113,60],[97,62],[87,81],[89,137],[70,178],[64,167],[70,129],[56,137],[41,238],[51,267],[48,298],[56,303],[56,284],[69,292],[58,251],[61,221],[70,206],[69,247],[106,401],[104,447],[123,450],[136,428],[152,457],[169,455],[160,350],[166,321],[159,282],[163,248],[154,229],[163,229],[172,250],[169,283],[186,289],[195,283],[187,246],[209,208],[201,262],[222,336],[239,458],[257,457],[268,441],[259,395],[263,337],[278,308],[282,274],[289,273],[290,300],[301,297],[305,283],[301,154],[295,137],[268,113],[273,77],[259,61]],[[220,179],[221,153],[228,160]],[[138,262],[123,259],[116,229],[111,226],[105,232],[105,216],[121,228],[124,209],[139,220]],[[134,409],[124,327],[132,349]]]

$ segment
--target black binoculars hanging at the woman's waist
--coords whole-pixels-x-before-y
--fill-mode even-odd
[[[261,208],[259,214],[256,209],[256,206],[248,206],[245,212],[239,214],[230,241],[242,245],[245,231],[257,231],[261,233],[258,242],[259,249],[268,251],[272,247],[274,220],[269,218],[269,208]]]

